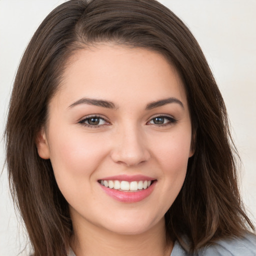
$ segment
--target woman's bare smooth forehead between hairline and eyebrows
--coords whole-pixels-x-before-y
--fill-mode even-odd
[[[100,44],[72,54],[56,96],[125,101],[143,95],[139,100],[153,101],[166,98],[166,94],[179,97],[186,104],[182,81],[162,54],[144,48]]]

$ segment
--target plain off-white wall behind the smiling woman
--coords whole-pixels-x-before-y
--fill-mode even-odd
[[[59,0],[0,0],[0,134],[21,55],[48,12]],[[161,0],[197,38],[226,102],[240,153],[241,193],[256,216],[256,1]],[[0,169],[4,144],[0,141]],[[25,243],[22,222],[9,197],[6,169],[0,176],[0,255],[17,255]],[[23,251],[22,255],[28,255]]]

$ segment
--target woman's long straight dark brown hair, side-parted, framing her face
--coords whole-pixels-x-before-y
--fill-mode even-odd
[[[106,41],[163,54],[184,83],[195,152],[165,214],[171,239],[186,235],[193,250],[253,229],[239,196],[225,105],[189,29],[155,0],[70,0],[51,11],[31,38],[15,77],[5,130],[11,191],[34,255],[66,255],[72,233],[68,204],[50,160],[37,154],[37,133],[68,57]]]

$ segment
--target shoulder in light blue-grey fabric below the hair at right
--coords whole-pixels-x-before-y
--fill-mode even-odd
[[[256,236],[253,234],[246,234],[243,237],[218,240],[214,244],[199,249],[197,253],[198,256],[256,256]]]

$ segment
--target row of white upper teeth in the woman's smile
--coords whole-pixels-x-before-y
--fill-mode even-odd
[[[113,189],[120,189],[120,190],[130,190],[130,191],[136,191],[141,189],[146,189],[150,186],[151,180],[139,180],[139,181],[131,181],[128,182],[126,180],[100,180],[100,184],[113,188]]]

